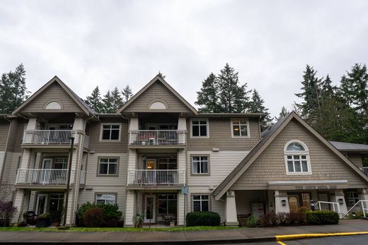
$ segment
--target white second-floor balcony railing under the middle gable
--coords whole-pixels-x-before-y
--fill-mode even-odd
[[[185,170],[128,170],[128,186],[183,186]]]

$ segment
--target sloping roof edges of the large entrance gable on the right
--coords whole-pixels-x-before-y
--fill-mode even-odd
[[[342,153],[338,151],[326,138],[323,138],[317,131],[315,131],[309,124],[307,124],[300,116],[298,116],[295,112],[289,113],[287,116],[284,116],[282,119],[277,121],[277,123],[273,124],[268,130],[263,131],[261,134],[261,140],[258,141],[257,145],[253,147],[250,153],[244,157],[243,160],[233,169],[233,171],[217,186],[216,189],[212,192],[215,196],[216,200],[219,200],[227,190],[231,188],[231,186],[241,177],[241,175],[246,172],[246,169],[250,167],[253,162],[260,156],[261,153],[270,145],[270,143],[279,135],[279,133],[284,129],[285,126],[292,119],[297,120],[302,126],[306,128],[309,132],[311,132],[318,140],[320,140],[324,145],[327,146],[335,155],[340,157],[343,162],[349,165],[357,174],[360,175],[365,181],[368,182],[368,177],[365,175],[360,169],[358,169],[350,160],[347,159]]]

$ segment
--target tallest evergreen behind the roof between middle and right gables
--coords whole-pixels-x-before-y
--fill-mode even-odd
[[[229,64],[220,71],[218,76],[219,104],[221,112],[245,112],[248,107],[247,84],[238,85],[238,72]]]

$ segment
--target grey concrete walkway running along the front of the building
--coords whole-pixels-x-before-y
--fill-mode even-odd
[[[223,244],[229,242],[275,241],[276,235],[283,234],[337,232],[368,232],[368,220],[340,220],[340,225],[185,232],[0,232],[0,243]]]

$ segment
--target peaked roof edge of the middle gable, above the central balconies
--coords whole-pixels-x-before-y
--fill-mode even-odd
[[[166,81],[163,80],[163,78],[161,78],[161,76],[159,76],[159,75],[155,76],[154,79],[152,79],[141,90],[139,90],[133,97],[131,97],[130,100],[128,100],[120,109],[117,110],[117,113],[122,113],[122,111],[124,111],[125,108],[129,107],[129,105],[132,104],[132,102],[134,102],[134,100],[137,100],[137,98],[140,95],[142,95],[143,92],[148,90],[151,87],[151,85],[153,85],[157,81],[161,82],[168,90],[170,90],[170,92],[172,92],[176,97],[178,97],[178,99],[181,102],[183,102],[183,104],[185,104],[185,106],[188,107],[188,109],[190,109],[191,112],[193,112],[195,115],[198,113],[197,109],[195,109],[195,107],[192,107],[192,105],[188,101],[186,101],[178,92],[176,92],[176,90],[174,90],[171,87],[171,85],[166,83]]]

